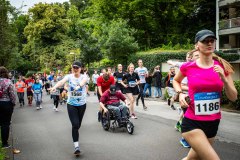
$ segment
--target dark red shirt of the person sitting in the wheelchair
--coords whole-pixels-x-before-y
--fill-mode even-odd
[[[107,90],[106,92],[103,93],[100,102],[102,102],[105,105],[109,105],[109,104],[113,104],[113,103],[117,103],[120,102],[120,100],[125,101],[125,97],[124,95],[117,91],[115,94],[110,94],[110,91]]]

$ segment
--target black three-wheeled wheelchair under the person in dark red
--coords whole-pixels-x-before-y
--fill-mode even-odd
[[[129,109],[127,112],[127,116],[125,118],[121,118],[120,124],[117,121],[115,111],[112,109],[108,109],[107,113],[104,113],[104,111],[102,111],[101,123],[105,131],[108,131],[110,128],[112,130],[115,130],[116,128],[126,128],[129,134],[133,134],[134,125],[129,119],[130,119]]]

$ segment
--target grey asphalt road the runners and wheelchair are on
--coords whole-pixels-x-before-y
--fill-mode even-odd
[[[21,154],[15,155],[15,160],[180,160],[189,150],[180,145],[181,135],[173,127],[174,120],[147,112],[138,113],[138,119],[132,120],[133,135],[124,129],[104,131],[97,122],[97,97],[90,96],[80,128],[82,155],[76,158],[66,105],[59,108],[59,112],[53,111],[47,95],[42,110],[16,106],[12,133],[14,146]],[[217,140],[214,148],[223,160],[239,160],[239,144]]]

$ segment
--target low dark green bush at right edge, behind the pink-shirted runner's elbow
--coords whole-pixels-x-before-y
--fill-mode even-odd
[[[235,109],[240,110],[240,80],[234,81],[234,85],[238,92],[238,97],[236,102],[231,102],[228,100],[225,91],[222,92],[222,104],[231,104]]]

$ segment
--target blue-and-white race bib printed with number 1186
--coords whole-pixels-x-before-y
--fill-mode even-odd
[[[212,115],[220,112],[218,92],[194,94],[195,115]]]

